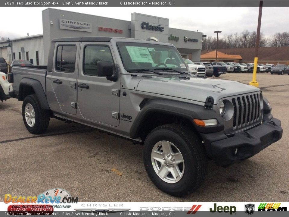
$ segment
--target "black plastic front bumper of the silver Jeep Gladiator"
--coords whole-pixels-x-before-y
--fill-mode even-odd
[[[281,139],[281,121],[272,118],[257,127],[224,138],[224,134],[202,134],[209,156],[218,166],[228,166],[235,160],[247,159]],[[214,141],[212,141],[215,138]],[[216,141],[217,140],[217,141]],[[208,142],[210,144],[208,144]],[[237,154],[235,150],[238,148]],[[208,150],[210,149],[210,150]]]

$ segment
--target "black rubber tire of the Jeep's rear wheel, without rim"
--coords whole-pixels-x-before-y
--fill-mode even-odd
[[[32,127],[28,125],[25,119],[25,106],[28,103],[32,105],[35,113],[35,123]],[[22,117],[26,129],[32,134],[41,134],[45,132],[50,120],[49,111],[41,108],[36,95],[28,95],[25,97],[22,104]]]

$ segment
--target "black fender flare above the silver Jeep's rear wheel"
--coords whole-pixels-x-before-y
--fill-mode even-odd
[[[23,99],[23,87],[24,86],[30,86],[33,88],[38,100],[39,100],[39,103],[40,103],[40,106],[42,109],[44,110],[50,110],[49,108],[49,105],[48,105],[48,102],[47,102],[47,99],[46,99],[46,95],[44,93],[44,90],[43,90],[43,87],[41,85],[41,83],[38,81],[38,80],[35,80],[35,79],[31,79],[31,78],[23,78],[21,81],[20,81],[20,84],[19,84],[19,97],[18,97],[18,100],[24,100]]]

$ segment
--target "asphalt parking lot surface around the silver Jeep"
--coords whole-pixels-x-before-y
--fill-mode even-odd
[[[251,78],[252,73],[229,73],[214,79],[248,84]],[[152,184],[142,146],[56,119],[45,134],[36,136],[23,124],[22,102],[0,102],[0,201],[5,193],[33,196],[56,187],[79,202],[289,201],[289,75],[258,73],[257,81],[274,117],[282,121],[282,139],[228,168],[210,161],[204,184],[182,198]]]

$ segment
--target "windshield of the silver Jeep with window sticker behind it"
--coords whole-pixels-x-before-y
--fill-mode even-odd
[[[126,71],[163,67],[188,71],[183,58],[173,46],[133,42],[117,42],[117,46]]]

